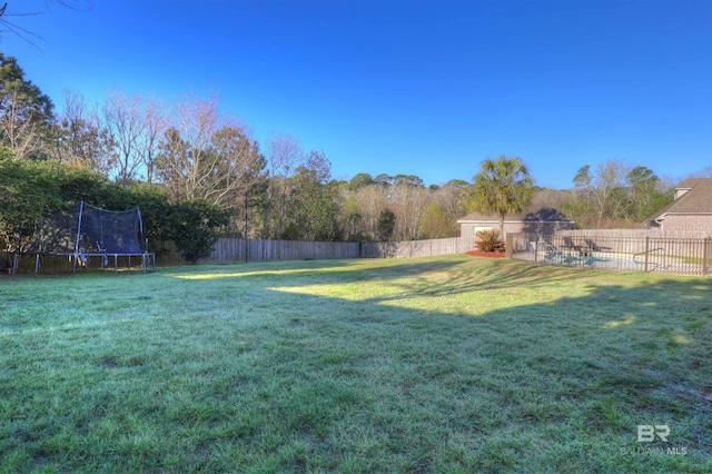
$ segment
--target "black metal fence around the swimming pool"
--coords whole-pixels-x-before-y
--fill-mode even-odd
[[[712,276],[712,238],[511,234],[512,258],[538,265]]]

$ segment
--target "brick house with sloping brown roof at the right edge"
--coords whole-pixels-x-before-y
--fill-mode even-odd
[[[645,224],[664,234],[712,237],[712,178],[690,178],[675,187],[675,199]]]

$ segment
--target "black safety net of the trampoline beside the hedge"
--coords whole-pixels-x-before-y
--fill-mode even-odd
[[[112,211],[82,201],[39,221],[23,254],[141,255],[142,234],[138,208]]]

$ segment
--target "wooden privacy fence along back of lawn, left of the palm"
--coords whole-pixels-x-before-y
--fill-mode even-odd
[[[172,243],[166,243],[165,247],[167,251],[157,257],[158,265],[180,265],[184,263],[180,254],[175,250]],[[212,254],[199,260],[199,263],[229,264],[270,260],[427,257],[462,254],[473,249],[473,239],[461,237],[387,243],[220,238],[215,244]]]

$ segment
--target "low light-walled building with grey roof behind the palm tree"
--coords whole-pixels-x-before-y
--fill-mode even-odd
[[[461,228],[461,237],[476,239],[476,233],[485,229],[500,229],[497,216],[486,216],[481,213],[472,213],[457,220]],[[504,219],[504,234],[531,233],[550,235],[556,230],[572,229],[573,220],[570,220],[560,210],[551,207],[532,206],[523,213],[507,215]],[[504,239],[505,236],[501,238]]]

